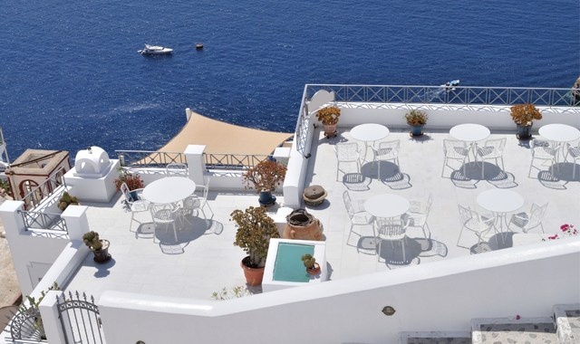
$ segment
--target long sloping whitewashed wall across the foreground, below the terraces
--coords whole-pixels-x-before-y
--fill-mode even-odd
[[[472,318],[549,316],[578,291],[580,238],[230,301],[105,291],[99,310],[110,343],[394,343],[400,331],[469,330]]]

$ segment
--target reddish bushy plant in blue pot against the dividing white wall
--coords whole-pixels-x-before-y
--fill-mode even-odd
[[[286,167],[274,160],[264,160],[257,163],[255,167],[247,169],[242,179],[248,188],[256,189],[260,193],[258,202],[260,205],[275,204],[275,196],[272,191],[276,186],[282,184],[286,176]]]

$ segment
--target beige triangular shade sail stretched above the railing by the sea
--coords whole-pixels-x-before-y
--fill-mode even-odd
[[[270,155],[292,133],[250,129],[208,119],[191,111],[186,125],[165,146],[162,152],[183,152],[188,145],[206,145],[206,153]]]

